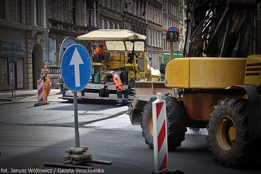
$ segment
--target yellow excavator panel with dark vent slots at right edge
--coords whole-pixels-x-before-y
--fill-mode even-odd
[[[261,55],[250,55],[247,58],[245,85],[261,85]]]

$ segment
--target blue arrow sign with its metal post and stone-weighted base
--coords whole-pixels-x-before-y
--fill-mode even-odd
[[[69,41],[69,40],[67,40]],[[64,51],[64,53],[61,54],[61,51],[63,52],[63,45],[65,46],[68,44],[69,47],[67,47]],[[77,107],[77,92],[81,91],[85,88],[85,86],[89,83],[90,77],[91,77],[91,71],[92,71],[92,63],[91,58],[88,53],[88,51],[85,49],[85,47],[79,45],[79,44],[70,44],[66,43],[64,44],[64,41],[62,43],[60,54],[62,55],[61,60],[61,75],[64,84],[72,91],[74,91],[74,124],[75,124],[75,147],[80,147],[80,138],[79,138],[79,129],[78,129],[78,107]],[[66,45],[67,46],[67,45]],[[81,146],[82,148],[84,146]],[[83,149],[83,148],[82,148]],[[67,152],[68,153],[68,152]],[[74,159],[73,161],[76,161],[76,164],[80,163],[86,163],[84,159],[82,158],[81,154],[73,153],[76,156],[80,157],[80,160]],[[66,157],[66,156],[65,156]],[[70,156],[71,157],[71,156]],[[85,157],[85,156],[84,156]],[[69,159],[69,158],[64,158]],[[83,160],[81,160],[83,159]],[[71,160],[71,159],[70,159]],[[68,160],[68,163],[70,164],[70,160]],[[100,163],[100,164],[112,164],[112,162],[109,161],[100,161],[100,160],[93,160],[94,163]],[[67,162],[65,162],[67,163]],[[64,163],[64,164],[65,164]],[[67,164],[68,164],[67,163]],[[51,163],[44,163],[44,166],[50,166],[50,167],[66,167],[66,168],[74,168],[73,165],[60,165],[60,164],[51,164]],[[72,164],[74,164],[72,162]],[[86,166],[77,166],[77,168],[86,168]],[[88,167],[90,168],[90,167]]]

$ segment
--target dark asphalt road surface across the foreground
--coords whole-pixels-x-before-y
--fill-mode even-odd
[[[22,169],[29,173],[28,168],[61,173],[63,168],[46,167],[44,163],[62,164],[65,150],[75,145],[73,104],[32,105],[0,105],[0,173],[11,173],[12,168],[20,169],[19,173]],[[112,103],[78,105],[80,145],[89,147],[93,159],[112,162],[111,165],[87,163],[95,172],[143,174],[153,171],[153,149],[145,144],[140,125],[130,124],[126,111],[127,106],[115,107]],[[237,168],[219,166],[208,151],[205,129],[188,129],[185,138],[180,147],[168,152],[169,169],[191,174],[257,174],[261,171],[260,162]]]

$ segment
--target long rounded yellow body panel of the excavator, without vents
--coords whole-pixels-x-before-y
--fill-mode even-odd
[[[184,89],[225,89],[244,85],[247,58],[180,58],[166,66],[165,85]]]

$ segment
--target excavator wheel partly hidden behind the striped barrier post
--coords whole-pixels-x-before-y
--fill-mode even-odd
[[[156,97],[153,97],[146,102],[141,116],[142,136],[151,149],[153,149],[152,102],[155,100]],[[163,96],[162,100],[166,100],[168,150],[175,150],[181,146],[187,132],[185,110],[183,104],[172,95]]]

